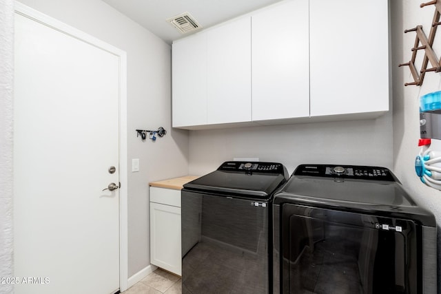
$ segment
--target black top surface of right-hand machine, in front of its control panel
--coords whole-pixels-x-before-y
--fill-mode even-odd
[[[309,165],[311,166],[311,165]],[[343,166],[347,169],[348,166]],[[356,167],[353,167],[355,170]],[[384,169],[384,168],[383,168]],[[325,169],[328,170],[329,169]],[[357,168],[358,170],[358,168]],[[341,169],[337,169],[341,171]],[[420,220],[422,224],[435,226],[432,213],[419,207],[404,191],[400,182],[387,169],[389,178],[373,176],[328,174],[303,176],[298,169],[287,184],[274,196],[274,204],[293,203],[314,207],[331,207],[342,211],[393,216]]]

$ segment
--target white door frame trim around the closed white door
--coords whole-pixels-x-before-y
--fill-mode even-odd
[[[18,1],[14,3],[14,12],[119,57],[119,288],[125,291],[128,288],[127,53]]]

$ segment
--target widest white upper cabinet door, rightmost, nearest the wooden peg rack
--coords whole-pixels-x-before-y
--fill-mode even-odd
[[[389,110],[384,0],[310,0],[311,116]]]

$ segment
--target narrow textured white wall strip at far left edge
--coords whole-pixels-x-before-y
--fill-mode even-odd
[[[0,277],[12,277],[12,88],[14,4],[0,0]],[[0,293],[12,284],[0,283]]]

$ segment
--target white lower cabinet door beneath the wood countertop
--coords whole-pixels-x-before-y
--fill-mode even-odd
[[[150,263],[181,275],[181,208],[150,202]]]

